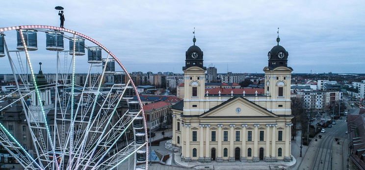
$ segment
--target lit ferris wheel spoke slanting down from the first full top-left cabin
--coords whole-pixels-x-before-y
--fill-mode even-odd
[[[34,87],[35,87],[35,90],[36,90],[36,93],[37,93],[38,102],[39,102],[39,105],[41,107],[41,112],[42,112],[43,117],[44,117],[44,123],[45,123],[46,130],[47,130],[47,136],[48,136],[48,139],[51,142],[51,148],[52,148],[52,152],[53,152],[53,161],[56,164],[57,170],[59,170],[58,163],[57,163],[57,158],[56,158],[56,154],[55,154],[54,147],[53,147],[53,142],[52,142],[52,139],[51,139],[50,129],[49,129],[48,123],[47,123],[47,116],[46,116],[46,114],[44,112],[44,109],[43,109],[43,104],[42,104],[42,101],[41,101],[41,96],[39,94],[38,86],[37,86],[37,83],[36,83],[36,80],[35,80],[34,71],[33,71],[33,68],[32,68],[32,65],[31,65],[31,62],[30,62],[30,58],[29,58],[29,54],[28,54],[28,49],[27,49],[27,46],[26,46],[26,42],[24,40],[24,35],[23,35],[22,28],[20,28],[19,30],[20,30],[20,35],[21,35],[21,38],[22,38],[23,46],[24,46],[25,51],[26,51],[26,60],[29,63],[29,69],[30,69],[30,73],[31,73],[31,76],[32,76],[32,79],[33,79]]]

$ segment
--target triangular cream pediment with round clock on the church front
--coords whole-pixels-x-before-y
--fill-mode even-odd
[[[234,97],[222,104],[211,108],[201,114],[201,118],[209,117],[278,117],[276,114],[262,108],[261,106],[243,98]]]

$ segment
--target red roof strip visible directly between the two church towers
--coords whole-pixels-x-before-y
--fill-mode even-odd
[[[263,88],[206,88],[204,93],[207,93],[207,90],[209,94],[218,94],[219,91],[221,91],[221,94],[231,94],[231,91],[233,91],[233,94],[242,94],[243,90],[245,91],[245,94],[255,94],[256,90],[258,94],[264,94]]]

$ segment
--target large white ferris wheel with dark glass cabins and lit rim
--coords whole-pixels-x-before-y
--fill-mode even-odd
[[[0,144],[24,169],[148,169],[147,125],[137,89],[102,44],[59,27],[0,28],[0,63],[10,65],[16,87],[0,98],[0,113],[21,108],[24,121],[15,125],[26,127],[32,146],[25,147],[26,140],[17,138],[22,135],[1,120]],[[42,66],[55,74],[43,74]]]

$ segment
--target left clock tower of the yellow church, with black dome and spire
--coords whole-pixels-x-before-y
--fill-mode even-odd
[[[194,30],[193,45],[185,52],[184,71],[184,114],[199,115],[204,113],[204,94],[205,94],[205,72],[203,66],[203,51],[195,45]]]

